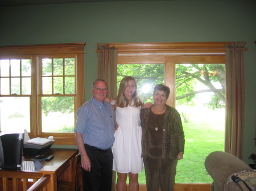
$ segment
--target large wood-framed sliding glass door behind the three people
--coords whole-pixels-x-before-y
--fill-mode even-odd
[[[118,49],[118,44],[113,45]],[[125,53],[118,52],[117,88],[123,77],[131,75],[137,80],[143,101],[152,102],[154,86],[164,83],[171,89],[167,104],[181,115],[185,151],[184,159],[177,165],[176,183],[212,182],[204,160],[210,152],[224,151],[224,50],[204,50],[208,52],[205,53],[191,49],[188,53],[188,50],[182,52],[184,48],[171,53],[155,53],[143,49],[143,53],[138,50],[131,53],[129,44],[127,49]],[[139,184],[146,184],[144,171],[139,174]]]

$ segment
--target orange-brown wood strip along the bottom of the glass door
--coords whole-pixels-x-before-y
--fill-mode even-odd
[[[127,185],[127,190],[129,190]],[[175,184],[175,191],[210,191],[210,184]],[[116,191],[116,189],[115,189]],[[139,185],[139,191],[147,191],[145,184]]]

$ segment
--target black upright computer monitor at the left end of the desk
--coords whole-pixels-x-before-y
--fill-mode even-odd
[[[24,133],[0,133],[0,168],[20,169]]]

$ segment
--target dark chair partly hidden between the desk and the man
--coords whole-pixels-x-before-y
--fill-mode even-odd
[[[82,191],[82,176],[81,176],[81,155],[75,156],[75,161],[72,168],[71,182],[59,181],[57,183],[59,191]]]

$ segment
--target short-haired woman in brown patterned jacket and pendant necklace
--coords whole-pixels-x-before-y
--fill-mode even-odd
[[[170,88],[154,88],[154,105],[142,109],[142,156],[147,191],[174,190],[177,160],[183,159],[184,133],[180,114],[166,104]]]

